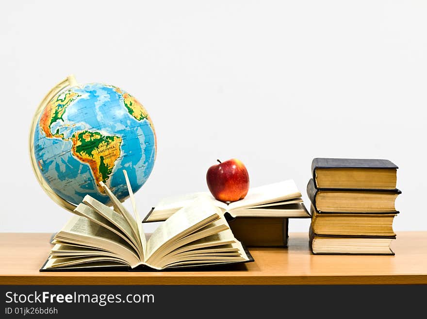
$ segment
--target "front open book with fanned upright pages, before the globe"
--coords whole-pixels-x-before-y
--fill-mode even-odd
[[[253,261],[236,240],[221,210],[197,198],[147,238],[126,171],[132,214],[101,184],[114,209],[86,195],[52,240],[40,271],[123,268],[176,269]]]

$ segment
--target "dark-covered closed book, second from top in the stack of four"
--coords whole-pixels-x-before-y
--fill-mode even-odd
[[[395,200],[399,189],[316,188],[311,178],[307,196],[321,213],[397,213]]]

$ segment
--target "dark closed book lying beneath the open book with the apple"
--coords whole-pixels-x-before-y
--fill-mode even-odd
[[[237,240],[246,247],[287,247],[288,218],[236,217],[225,214]]]

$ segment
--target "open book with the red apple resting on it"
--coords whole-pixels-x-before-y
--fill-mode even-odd
[[[293,180],[250,188],[244,199],[233,202],[217,201],[210,192],[172,196],[159,201],[143,222],[166,220],[196,198],[210,199],[222,212],[236,217],[310,218]]]

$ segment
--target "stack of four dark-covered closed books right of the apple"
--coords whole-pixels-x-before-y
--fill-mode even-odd
[[[397,168],[384,159],[313,159],[312,253],[394,255]]]

